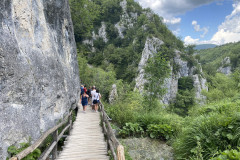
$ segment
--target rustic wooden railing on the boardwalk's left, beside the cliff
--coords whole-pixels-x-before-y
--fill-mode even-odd
[[[58,134],[58,129],[66,124],[66,127],[62,130],[60,134]],[[22,158],[26,157],[28,154],[32,153],[36,148],[38,148],[44,140],[50,135],[53,134],[53,142],[49,145],[45,151],[41,154],[38,160],[45,160],[52,152],[52,159],[57,158],[57,144],[58,141],[63,137],[64,132],[72,128],[72,111],[64,118],[64,120],[56,125],[55,127],[46,131],[34,144],[23,150],[22,152],[18,153],[14,157],[10,158],[10,160],[21,160]]]

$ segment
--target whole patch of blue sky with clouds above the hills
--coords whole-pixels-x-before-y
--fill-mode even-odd
[[[136,0],[186,44],[240,41],[240,0]]]

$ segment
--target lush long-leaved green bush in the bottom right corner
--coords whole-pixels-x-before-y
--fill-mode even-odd
[[[235,149],[240,145],[239,112],[200,115],[187,119],[185,126],[173,143],[177,159],[196,157],[196,154],[209,159],[228,146]]]

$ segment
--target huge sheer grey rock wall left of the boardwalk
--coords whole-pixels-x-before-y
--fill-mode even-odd
[[[0,159],[34,141],[79,100],[68,0],[0,1]]]

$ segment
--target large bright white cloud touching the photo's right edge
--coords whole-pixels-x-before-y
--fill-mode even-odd
[[[226,16],[225,21],[218,27],[211,39],[216,44],[240,41],[240,2],[233,4],[233,11]]]

